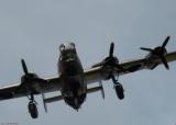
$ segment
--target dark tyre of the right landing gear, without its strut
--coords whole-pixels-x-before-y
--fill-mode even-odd
[[[120,100],[123,100],[124,99],[124,90],[123,90],[123,87],[121,83],[117,83],[114,86],[114,89],[116,89],[116,93],[117,93],[117,96],[120,99]]]

